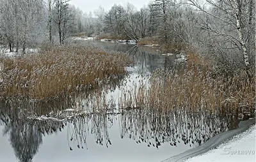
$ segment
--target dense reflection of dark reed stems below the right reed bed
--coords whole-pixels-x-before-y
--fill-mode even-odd
[[[163,114],[156,108],[124,110],[119,118],[121,138],[131,138],[137,144],[146,143],[148,147],[156,148],[166,142],[172,146],[180,142],[191,147],[200,145],[227,131],[230,122],[232,115],[182,109]]]

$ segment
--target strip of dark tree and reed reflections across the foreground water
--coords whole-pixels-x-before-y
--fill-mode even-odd
[[[2,104],[3,106],[3,104]],[[92,113],[74,116],[72,119],[28,119],[17,109],[11,113],[10,105],[1,112],[4,135],[10,135],[10,143],[15,156],[20,161],[30,161],[42,144],[42,136],[52,135],[67,127],[67,144],[72,151],[90,149],[86,138],[92,135],[95,143],[109,147],[113,125],[118,126],[120,138],[134,140],[137,144],[146,143],[148,147],[161,147],[168,143],[173,147],[183,143],[195,147],[212,136],[227,131],[234,121],[232,115],[212,114],[211,112],[192,113],[189,110],[159,112],[154,109],[122,109],[116,113]],[[3,109],[2,109],[3,110]]]

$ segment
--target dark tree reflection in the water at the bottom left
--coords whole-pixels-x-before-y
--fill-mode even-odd
[[[13,107],[5,101],[0,103],[0,124],[4,124],[4,135],[10,135],[10,143],[19,161],[32,161],[39,145],[42,144],[42,135],[53,133],[63,126],[60,122],[38,121],[27,119],[26,104]]]

